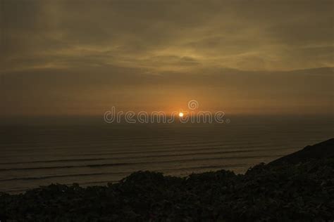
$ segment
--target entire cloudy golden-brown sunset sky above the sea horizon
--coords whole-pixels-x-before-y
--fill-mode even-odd
[[[333,113],[334,1],[1,0],[1,116]]]

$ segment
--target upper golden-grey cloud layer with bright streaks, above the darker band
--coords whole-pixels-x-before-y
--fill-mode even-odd
[[[63,66],[67,59],[72,66],[71,58],[82,56],[138,67],[159,67],[155,58],[168,56],[242,70],[333,65],[331,6],[331,1],[4,1],[4,65],[29,68],[20,63],[29,59],[40,67],[50,60]],[[301,49],[314,44],[328,47]]]

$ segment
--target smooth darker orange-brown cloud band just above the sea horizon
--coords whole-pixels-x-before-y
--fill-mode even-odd
[[[250,72],[199,69],[147,74],[124,67],[44,69],[2,77],[2,114],[101,115],[122,110],[179,109],[196,98],[205,110],[228,113],[330,113],[333,69]]]

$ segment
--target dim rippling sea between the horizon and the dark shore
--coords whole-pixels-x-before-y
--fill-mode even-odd
[[[229,124],[105,124],[24,119],[0,125],[0,191],[105,185],[134,171],[245,171],[334,137],[333,117],[231,117]]]

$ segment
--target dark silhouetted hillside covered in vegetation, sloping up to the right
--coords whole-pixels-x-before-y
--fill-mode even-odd
[[[334,139],[246,174],[139,171],[107,186],[0,194],[3,221],[333,221]]]

